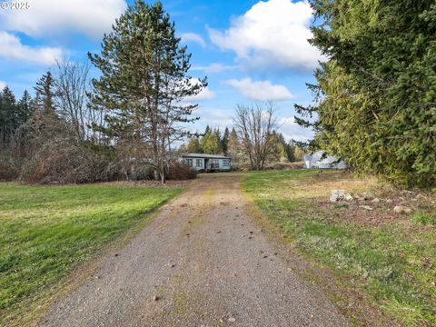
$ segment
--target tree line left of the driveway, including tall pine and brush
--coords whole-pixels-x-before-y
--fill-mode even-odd
[[[35,84],[35,99],[0,94],[0,179],[84,183],[192,176],[173,155],[189,134],[205,78],[187,72],[191,54],[160,2],[137,0],[104,35],[90,63],[62,61]],[[90,64],[101,74],[90,80]],[[178,175],[176,175],[178,174]]]

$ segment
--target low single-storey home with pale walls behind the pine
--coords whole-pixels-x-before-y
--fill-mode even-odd
[[[182,154],[183,162],[197,171],[228,172],[232,159],[218,154]]]

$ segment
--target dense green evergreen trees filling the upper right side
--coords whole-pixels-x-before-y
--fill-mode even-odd
[[[357,172],[436,184],[436,5],[433,1],[312,0],[312,44],[329,60],[296,105],[312,145]],[[313,122],[308,117],[316,117]]]

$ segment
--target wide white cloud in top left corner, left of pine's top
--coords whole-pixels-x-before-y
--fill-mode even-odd
[[[0,28],[30,36],[70,30],[101,37],[126,9],[124,0],[35,0],[28,10],[0,10]]]

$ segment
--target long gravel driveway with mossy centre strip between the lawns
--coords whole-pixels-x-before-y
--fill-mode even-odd
[[[54,303],[45,326],[344,326],[253,220],[242,174],[201,175]]]

